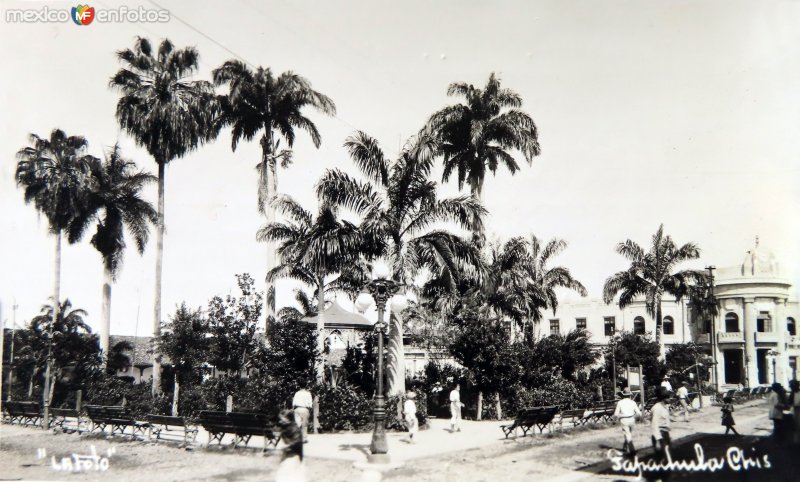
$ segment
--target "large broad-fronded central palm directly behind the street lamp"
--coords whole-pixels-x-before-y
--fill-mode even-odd
[[[317,184],[317,195],[361,218],[364,254],[386,258],[395,282],[413,289],[415,278],[428,272],[454,290],[465,272],[481,266],[474,246],[445,225],[482,230],[486,210],[472,196],[437,197],[436,182],[430,180],[435,139],[425,134],[410,139],[395,162],[389,162],[377,141],[363,132],[350,136],[345,147],[365,180],[328,170]],[[390,394],[405,389],[402,319],[399,313],[393,315],[387,369]]]

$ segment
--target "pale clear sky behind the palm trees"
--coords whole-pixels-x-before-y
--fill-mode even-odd
[[[68,2],[0,1],[0,318],[38,314],[53,285],[54,240],[14,181],[29,133],[82,135],[101,156],[119,142],[139,166],[152,158],[121,132],[115,52],[136,36],[169,38],[200,52],[197,79],[238,57],[292,70],[336,103],[308,112],[322,134],[304,134],[279,191],[314,209],[325,169],[354,171],[342,144],[356,130],[390,157],[427,117],[456,99],[455,81],[496,72],[523,98],[542,154],[516,175],[486,179],[487,229],[500,240],[535,233],[569,243],[556,264],[592,297],[625,269],[617,243],[647,245],[663,223],[702,257],[686,268],[741,263],[755,236],[783,275],[800,281],[800,1],[168,1],[92,2],[96,11],[168,10],[163,23],[10,23],[9,9],[69,9]],[[236,294],[236,273],[266,273],[255,240],[257,142],[231,150],[224,132],[170,163],[166,173],[163,312]],[[443,195],[457,193],[453,183]],[[155,202],[155,189],[145,196]],[[102,264],[83,242],[65,246],[62,297],[97,328]],[[153,238],[154,239],[154,238]],[[113,289],[112,334],[152,325],[155,245],[130,249]],[[293,285],[278,285],[278,304]],[[565,299],[575,295],[564,293]],[[17,309],[12,306],[16,304]]]

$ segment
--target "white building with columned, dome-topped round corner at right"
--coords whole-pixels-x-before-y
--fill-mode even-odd
[[[720,388],[756,386],[778,381],[784,386],[797,379],[800,337],[797,334],[800,306],[790,294],[791,283],[780,276],[778,263],[767,250],[756,246],[747,251],[738,266],[715,273],[714,294],[719,315],[714,320],[716,371]],[[688,300],[665,299],[661,305],[664,344],[694,342],[711,353],[711,320],[695,319]],[[557,313],[544,314],[541,335],[585,328],[591,341],[606,345],[614,333],[624,330],[655,332],[655,320],[644,301],[620,309],[602,300],[563,303]]]

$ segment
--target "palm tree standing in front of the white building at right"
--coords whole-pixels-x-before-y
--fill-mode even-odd
[[[695,243],[676,246],[672,237],[664,234],[664,225],[658,227],[653,235],[649,251],[628,239],[617,245],[617,253],[631,262],[631,266],[606,279],[603,287],[603,301],[614,301],[619,295],[618,304],[624,308],[635,299],[644,296],[647,313],[656,320],[656,342],[659,357],[664,359],[664,336],[661,326],[661,300],[664,294],[675,297],[675,301],[689,294],[693,284],[703,282],[705,273],[699,270],[673,272],[684,261],[700,257],[700,249]]]

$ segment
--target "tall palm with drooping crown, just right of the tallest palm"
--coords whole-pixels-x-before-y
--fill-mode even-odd
[[[238,60],[229,60],[212,73],[218,86],[228,85],[228,95],[223,102],[220,126],[231,127],[231,149],[236,150],[239,141],[250,141],[261,132],[261,161],[258,171],[258,212],[265,214],[267,223],[275,221],[275,208],[270,204],[278,192],[278,164],[283,168],[292,162],[291,150],[280,149],[282,138],[289,149],[295,141],[295,129],[311,136],[315,147],[322,138],[314,123],[305,116],[303,109],[312,107],[328,115],[336,114],[336,106],[327,96],[311,88],[305,78],[284,72],[277,77],[269,68],[258,67],[255,71]],[[275,250],[267,249],[267,270],[276,266]],[[267,324],[274,317],[270,303],[272,282],[267,281]]]

